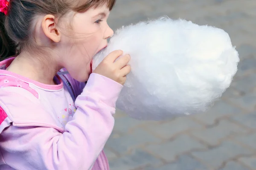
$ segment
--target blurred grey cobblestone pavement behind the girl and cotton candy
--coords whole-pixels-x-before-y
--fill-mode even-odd
[[[256,0],[117,0],[109,25],[163,15],[227,31],[239,71],[206,113],[142,122],[117,111],[105,147],[111,170],[256,170]]]

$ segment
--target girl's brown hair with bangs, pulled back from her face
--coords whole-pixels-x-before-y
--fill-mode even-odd
[[[0,57],[18,53],[32,45],[34,20],[40,14],[62,17],[69,11],[84,12],[107,3],[111,11],[116,0],[10,0],[8,14],[0,14]]]

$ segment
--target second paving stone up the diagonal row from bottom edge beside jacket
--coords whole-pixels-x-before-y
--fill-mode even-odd
[[[206,148],[203,144],[195,141],[187,135],[180,135],[170,142],[163,144],[151,144],[145,147],[151,153],[162,157],[166,161],[174,161],[175,156],[187,152],[192,149],[204,149]]]

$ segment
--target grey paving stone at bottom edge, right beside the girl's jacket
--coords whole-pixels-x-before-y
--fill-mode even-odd
[[[131,155],[126,155],[109,161],[111,170],[132,170],[146,165],[153,166],[161,161],[143,150],[136,149]]]

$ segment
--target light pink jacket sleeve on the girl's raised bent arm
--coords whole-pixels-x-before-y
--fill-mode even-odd
[[[92,74],[76,99],[77,110],[66,132],[10,126],[1,133],[4,159],[15,160],[12,167],[19,170],[89,170],[113,130],[112,115],[121,89],[119,83]]]

